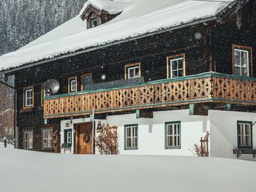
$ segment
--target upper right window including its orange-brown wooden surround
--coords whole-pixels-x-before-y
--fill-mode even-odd
[[[233,74],[252,75],[252,47],[233,45]]]

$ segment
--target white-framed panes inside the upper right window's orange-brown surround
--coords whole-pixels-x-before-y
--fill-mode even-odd
[[[249,47],[246,49],[240,47],[234,47],[234,74],[249,77],[250,71],[250,51]]]

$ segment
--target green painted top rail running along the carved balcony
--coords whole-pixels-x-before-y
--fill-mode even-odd
[[[177,82],[177,81],[183,81],[183,80],[193,80],[193,79],[205,78],[205,77],[225,77],[225,78],[232,78],[232,79],[238,79],[238,80],[256,81],[255,77],[243,77],[243,76],[238,76],[238,75],[233,75],[233,74],[205,72],[205,73],[200,73],[200,74],[192,74],[192,75],[188,75],[188,76],[184,76],[184,77],[176,77],[176,78],[172,78],[172,79],[168,78],[168,79],[163,79],[163,80],[143,82],[143,83],[137,84],[137,85],[120,86],[117,88],[106,88],[106,89],[97,89],[94,91],[78,91],[75,93],[64,93],[64,94],[56,95],[56,96],[48,96],[48,97],[44,98],[44,100],[57,99],[57,98],[63,98],[63,97],[68,97],[68,96],[78,96],[78,95],[83,95],[86,93],[99,93],[99,92],[104,92],[104,91],[113,91],[113,90],[124,89],[124,88],[137,88],[137,87],[146,86],[146,85],[155,85],[155,84],[161,84],[161,83],[166,83],[166,82]]]

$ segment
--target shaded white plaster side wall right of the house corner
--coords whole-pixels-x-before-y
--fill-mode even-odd
[[[236,158],[233,149],[237,149],[237,121],[256,121],[255,112],[227,112],[219,110],[209,110],[211,120],[211,156],[222,158]],[[256,128],[252,127],[252,143],[256,148]],[[252,155],[241,155],[239,159],[252,161]]]

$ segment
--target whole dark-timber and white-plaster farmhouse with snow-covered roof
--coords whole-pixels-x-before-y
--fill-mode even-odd
[[[94,136],[108,125],[119,154],[195,155],[196,144],[253,160],[255,9],[253,0],[87,1],[0,57],[15,77],[18,147],[97,154]]]

